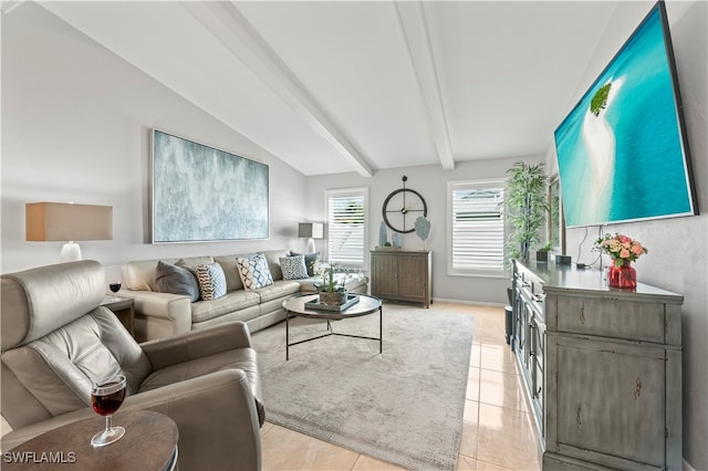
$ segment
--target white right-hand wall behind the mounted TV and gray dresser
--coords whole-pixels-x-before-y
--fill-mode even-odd
[[[637,8],[638,7],[638,8]],[[591,57],[576,100],[585,92],[620,46],[639,24],[650,4],[621,3],[606,35]],[[639,240],[649,250],[636,263],[641,282],[684,295],[684,458],[696,470],[708,469],[708,3],[669,1],[666,4],[684,115],[688,129],[698,207],[702,214],[602,228],[603,233],[621,232]],[[569,104],[570,107],[573,105]],[[554,148],[549,149],[549,167],[556,166]],[[584,262],[598,229],[568,231],[566,252]],[[605,261],[605,265],[606,265]],[[657,411],[659,412],[659,411]]]

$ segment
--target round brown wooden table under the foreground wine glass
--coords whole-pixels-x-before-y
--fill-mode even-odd
[[[179,431],[169,417],[149,410],[118,411],[113,416],[113,425],[125,428],[123,438],[105,447],[92,447],[91,437],[105,425],[105,418],[96,415],[3,450],[2,470],[162,471],[176,468]]]

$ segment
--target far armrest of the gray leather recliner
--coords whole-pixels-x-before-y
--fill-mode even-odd
[[[251,334],[244,323],[230,322],[175,337],[145,342],[140,347],[153,363],[153,369],[163,369],[235,348],[249,348]]]

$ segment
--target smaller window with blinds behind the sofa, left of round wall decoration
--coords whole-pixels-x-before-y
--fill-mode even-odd
[[[326,190],[330,262],[364,268],[368,189]]]

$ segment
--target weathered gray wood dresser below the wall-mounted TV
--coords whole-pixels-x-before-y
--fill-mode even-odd
[[[513,262],[516,353],[544,470],[680,470],[681,304],[598,270]]]

